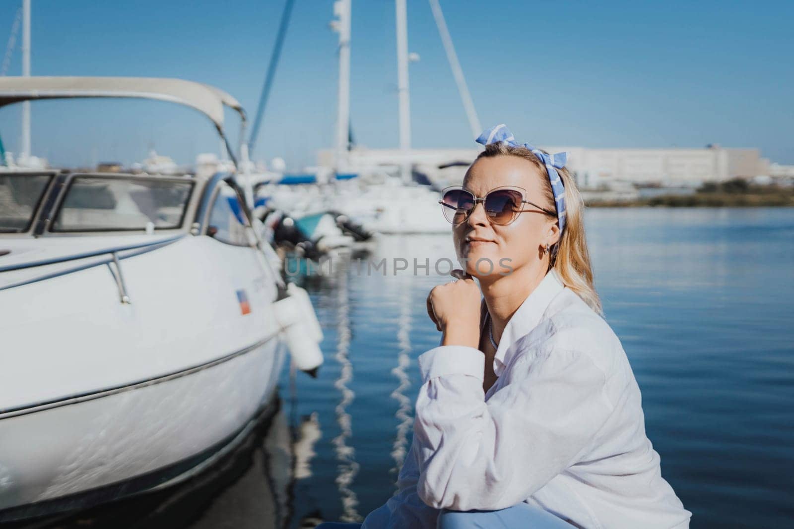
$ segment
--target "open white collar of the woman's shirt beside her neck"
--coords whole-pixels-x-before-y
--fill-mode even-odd
[[[497,377],[501,376],[504,368],[515,355],[513,344],[538,326],[549,303],[564,288],[557,272],[554,269],[549,270],[540,284],[518,307],[510,321],[507,322],[502,338],[499,339],[499,347],[494,356],[494,374]]]

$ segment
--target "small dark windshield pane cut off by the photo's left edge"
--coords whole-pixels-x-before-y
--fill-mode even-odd
[[[51,174],[0,173],[0,233],[27,232]]]

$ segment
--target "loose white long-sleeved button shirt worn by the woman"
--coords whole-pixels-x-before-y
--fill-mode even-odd
[[[364,529],[436,527],[438,510],[522,501],[575,527],[689,527],[646,437],[640,390],[607,323],[557,274],[504,329],[499,377],[484,355],[441,346],[419,357],[422,388],[399,490]]]

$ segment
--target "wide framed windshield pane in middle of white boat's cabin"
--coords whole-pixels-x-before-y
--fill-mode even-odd
[[[182,225],[193,182],[167,178],[76,176],[53,232],[173,229]]]

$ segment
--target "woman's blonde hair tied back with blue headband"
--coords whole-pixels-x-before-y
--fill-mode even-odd
[[[542,174],[543,189],[548,209],[555,211],[554,194],[546,174],[545,165],[526,147],[511,147],[502,142],[488,144],[477,159],[494,156],[518,156],[533,163]],[[476,162],[476,160],[475,160]],[[592,266],[588,243],[584,236],[584,202],[576,189],[576,182],[568,169],[557,169],[565,186],[565,230],[560,240],[549,249],[549,270],[554,269],[563,285],[572,289],[595,312],[602,314],[601,301],[593,286]]]

